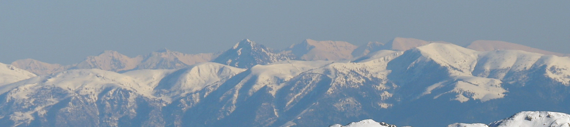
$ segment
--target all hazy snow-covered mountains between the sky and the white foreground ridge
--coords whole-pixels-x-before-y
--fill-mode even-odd
[[[373,119],[443,127],[520,111],[570,112],[570,57],[552,54],[398,37],[360,47],[306,40],[279,51],[246,39],[202,55],[105,52],[65,67],[2,65],[0,125],[304,127]],[[22,65],[57,72],[36,75]]]

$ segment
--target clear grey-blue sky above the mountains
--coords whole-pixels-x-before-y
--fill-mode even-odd
[[[74,64],[104,50],[210,53],[250,39],[362,45],[500,40],[570,53],[570,1],[0,1],[0,62]]]

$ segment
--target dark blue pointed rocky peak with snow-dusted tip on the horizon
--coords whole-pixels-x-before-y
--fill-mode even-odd
[[[212,62],[230,65],[239,68],[249,68],[255,65],[266,65],[273,62],[295,60],[292,54],[275,53],[262,44],[249,39],[243,39],[232,48],[219,54]]]

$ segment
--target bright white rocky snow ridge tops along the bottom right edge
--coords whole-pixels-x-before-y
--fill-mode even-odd
[[[374,120],[362,120],[351,122],[348,125],[335,124],[329,127],[395,127],[396,125],[376,122]],[[526,111],[519,112],[503,120],[491,122],[491,124],[465,124],[455,123],[447,127],[567,127],[570,126],[570,115],[560,112]]]

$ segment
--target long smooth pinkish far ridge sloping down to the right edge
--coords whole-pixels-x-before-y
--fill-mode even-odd
[[[477,40],[473,41],[467,48],[478,50],[478,51],[490,51],[490,50],[524,50],[526,52],[534,52],[540,54],[553,54],[556,56],[570,56],[570,54],[555,53],[547,50],[532,48],[530,46],[508,43],[506,41],[493,41],[493,40]]]

